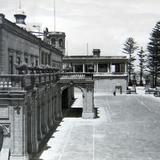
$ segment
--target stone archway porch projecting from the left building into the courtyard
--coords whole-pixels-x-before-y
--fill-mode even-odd
[[[83,101],[83,108],[82,108],[82,118],[84,119],[92,119],[95,118],[95,108],[94,108],[94,81],[91,79],[84,79],[83,76],[79,75],[65,75],[61,77],[60,81],[58,82],[60,87],[60,110],[62,110],[66,106],[69,108],[70,99],[67,98],[69,93],[74,93],[73,87],[79,88],[82,91],[82,101]],[[66,88],[72,88],[71,91],[64,91]],[[64,93],[63,93],[64,91]],[[71,94],[72,95],[72,94]],[[74,95],[74,94],[73,94]],[[71,97],[71,96],[70,96]],[[73,98],[74,96],[72,96]],[[63,108],[62,108],[63,107]]]

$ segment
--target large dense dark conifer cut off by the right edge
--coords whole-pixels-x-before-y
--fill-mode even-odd
[[[156,87],[160,74],[160,22],[157,22],[148,43],[148,71],[152,77],[152,87]]]

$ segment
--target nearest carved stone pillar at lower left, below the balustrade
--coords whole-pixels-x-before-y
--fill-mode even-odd
[[[11,101],[12,110],[12,145],[10,160],[29,160],[27,153],[27,110],[22,98],[24,93],[18,93]]]

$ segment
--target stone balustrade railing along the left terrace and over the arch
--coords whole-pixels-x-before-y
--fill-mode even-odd
[[[50,84],[60,79],[92,80],[92,73],[41,73],[41,74],[4,74],[0,75],[0,89],[30,89]]]

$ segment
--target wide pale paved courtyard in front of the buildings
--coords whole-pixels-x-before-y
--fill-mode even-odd
[[[74,106],[81,106],[78,99]],[[64,118],[41,160],[159,160],[160,98],[97,95],[99,118]]]

